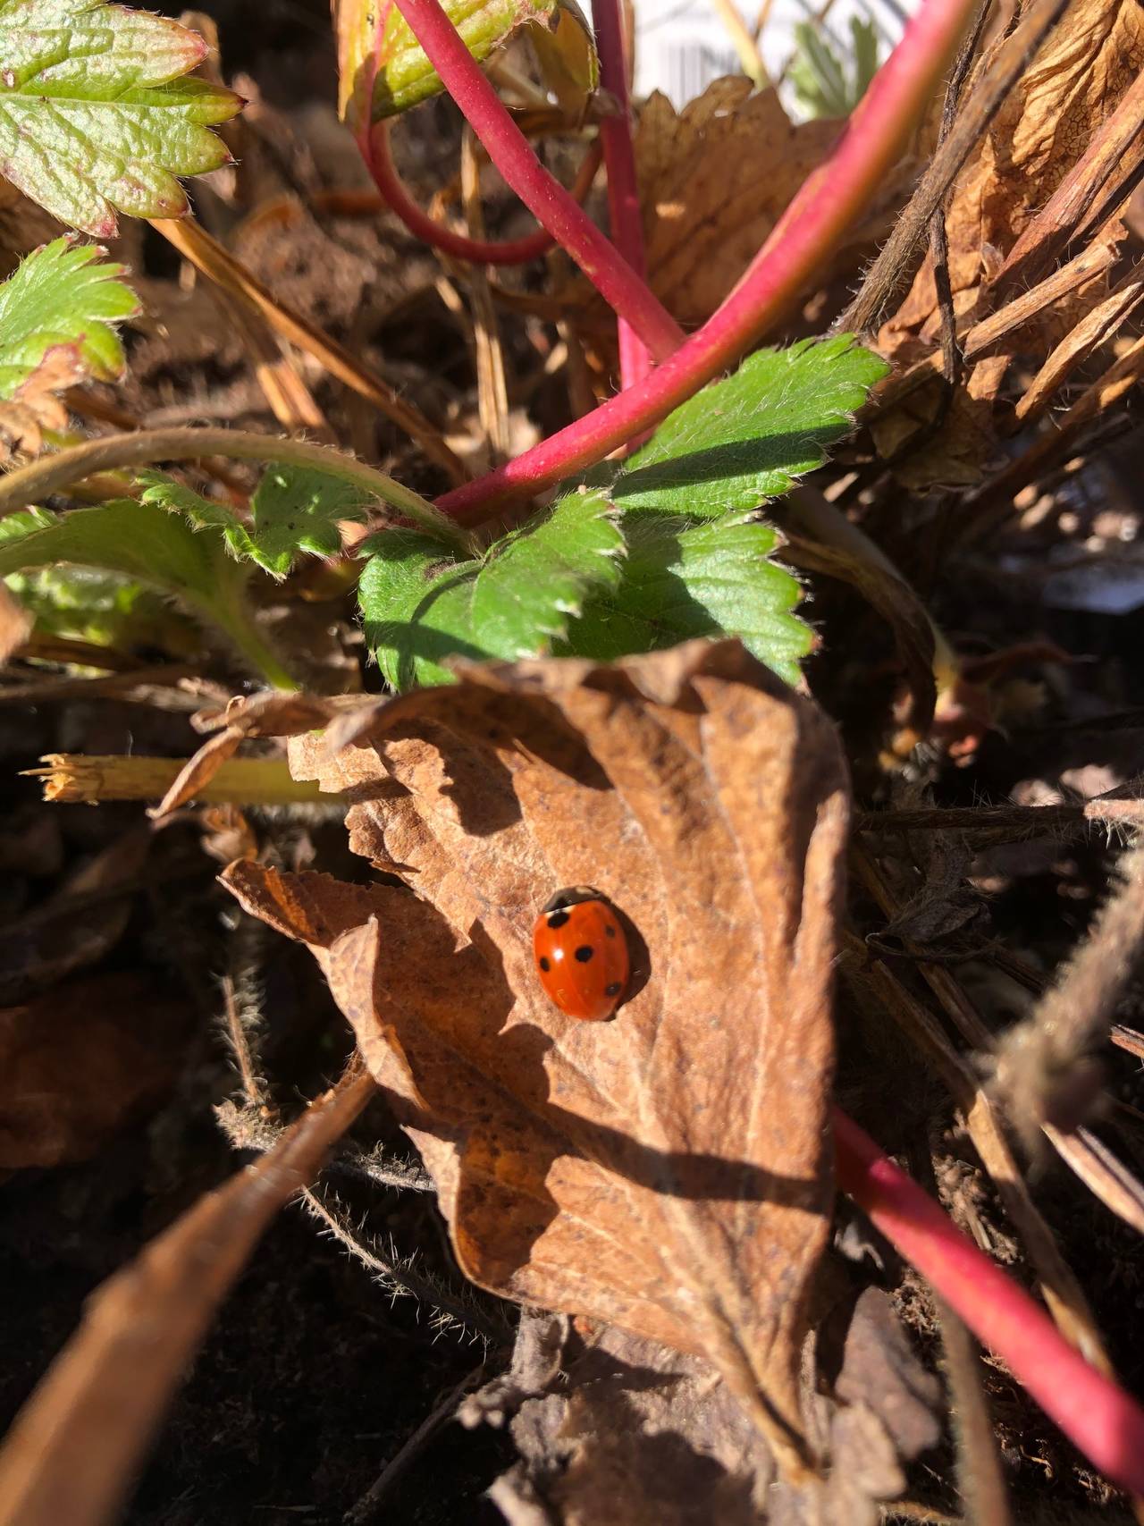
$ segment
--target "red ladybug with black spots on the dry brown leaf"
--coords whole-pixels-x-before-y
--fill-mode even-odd
[[[569,1018],[604,1022],[631,974],[627,938],[590,885],[558,890],[532,926],[532,957],[545,995]]]

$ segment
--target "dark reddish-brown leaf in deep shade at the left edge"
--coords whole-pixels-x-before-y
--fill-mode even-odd
[[[186,1009],[92,975],[0,1012],[0,1169],[88,1160],[174,1077]]]

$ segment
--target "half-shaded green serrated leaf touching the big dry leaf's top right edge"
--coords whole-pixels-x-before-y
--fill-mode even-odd
[[[813,644],[795,615],[799,584],[769,560],[778,534],[746,516],[624,519],[628,554],[615,589],[586,603],[563,650],[609,661],[694,636],[738,636],[787,684]]]

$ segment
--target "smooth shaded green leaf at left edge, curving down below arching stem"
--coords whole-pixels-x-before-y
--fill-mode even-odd
[[[272,684],[293,687],[246,601],[249,572],[227,557],[220,534],[195,534],[182,516],[134,499],[67,514],[32,510],[0,525],[6,531],[0,537],[0,577],[64,563],[131,578],[178,598],[226,632]]]

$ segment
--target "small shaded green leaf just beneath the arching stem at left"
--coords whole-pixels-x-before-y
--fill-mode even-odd
[[[247,531],[223,504],[159,472],[140,473],[146,482],[145,504],[186,514],[192,523],[221,530],[232,552],[282,578],[299,551],[316,557],[336,557],[342,549],[340,520],[362,522],[371,494],[345,478],[313,467],[270,465],[250,499],[253,519]]]

